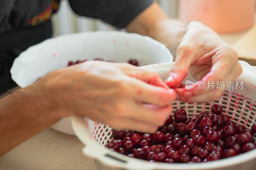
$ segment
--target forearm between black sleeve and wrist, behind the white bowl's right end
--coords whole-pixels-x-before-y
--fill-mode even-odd
[[[163,43],[175,55],[180,40],[185,35],[185,23],[170,19],[161,7],[154,3],[126,26],[128,32],[147,35]]]

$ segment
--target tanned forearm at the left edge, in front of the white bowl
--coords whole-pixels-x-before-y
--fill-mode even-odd
[[[60,117],[51,112],[49,105],[45,105],[47,101],[39,99],[28,88],[19,89],[0,99],[0,156],[58,122]]]

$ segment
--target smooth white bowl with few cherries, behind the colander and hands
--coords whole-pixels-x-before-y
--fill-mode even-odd
[[[67,67],[70,60],[96,57],[117,62],[135,58],[140,66],[172,61],[170,51],[147,36],[117,31],[75,33],[45,40],[22,52],[12,65],[12,79],[26,87],[53,70]],[[52,127],[74,135],[70,121],[63,118]]]

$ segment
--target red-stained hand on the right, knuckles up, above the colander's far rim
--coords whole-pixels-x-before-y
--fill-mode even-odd
[[[223,89],[217,89],[217,81],[234,80],[242,73],[236,51],[200,22],[188,24],[187,32],[180,41],[176,51],[175,65],[172,67],[165,83],[175,88],[188,74],[197,80],[205,81],[204,89],[198,89],[198,82],[193,89],[176,88],[179,100],[186,102],[205,102],[217,100]],[[208,82],[214,83],[214,88],[206,88]],[[225,86],[226,87],[226,86]]]

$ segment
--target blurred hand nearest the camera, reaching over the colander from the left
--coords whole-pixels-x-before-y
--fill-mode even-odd
[[[56,112],[152,133],[172,112],[176,92],[156,72],[127,63],[87,61],[55,70],[34,83]],[[147,103],[147,104],[145,104]]]

